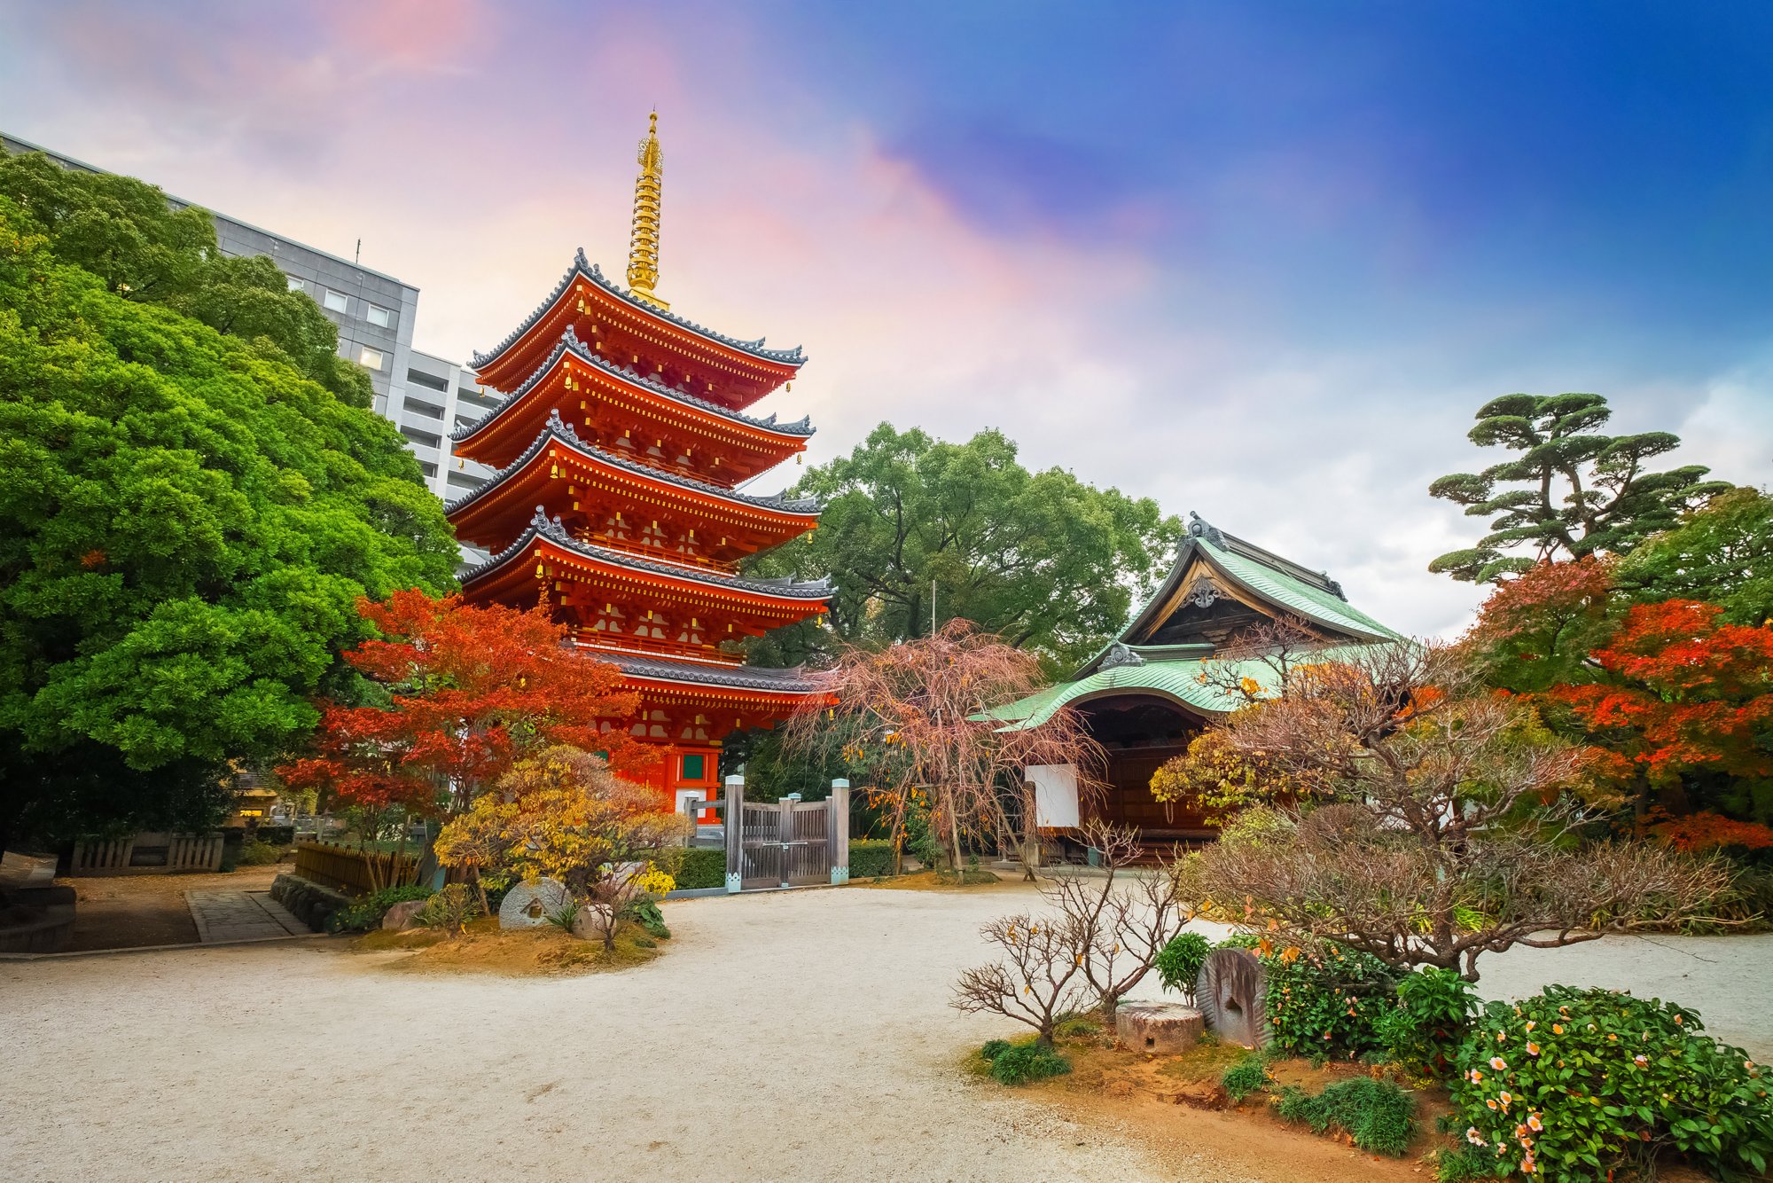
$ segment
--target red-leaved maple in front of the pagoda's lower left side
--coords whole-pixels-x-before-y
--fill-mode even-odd
[[[278,768],[293,786],[415,812],[431,812],[447,786],[449,812],[459,812],[539,747],[606,752],[626,772],[656,759],[621,725],[638,709],[621,670],[576,651],[541,607],[399,591],[358,601],[358,612],[383,639],[344,658],[385,688],[387,704],[323,702],[314,756]]]

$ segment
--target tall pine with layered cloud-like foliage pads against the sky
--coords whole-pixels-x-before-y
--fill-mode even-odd
[[[1599,394],[1505,394],[1479,408],[1472,443],[1518,456],[1429,486],[1433,497],[1464,505],[1466,516],[1491,518],[1477,546],[1441,555],[1429,571],[1493,584],[1546,559],[1619,555],[1730,488],[1704,481],[1709,468],[1702,465],[1647,470],[1647,461],[1677,449],[1681,438],[1667,431],[1597,435],[1610,417]],[[1505,553],[1516,550],[1532,557]]]

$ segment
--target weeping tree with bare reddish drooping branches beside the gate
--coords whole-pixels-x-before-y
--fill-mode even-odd
[[[1044,678],[1034,656],[966,621],[879,651],[849,649],[819,678],[830,701],[789,720],[787,745],[867,766],[872,800],[894,816],[927,798],[956,869],[968,842],[1002,841],[1018,818],[1034,816],[1025,768],[1071,764],[1080,791],[1099,784],[1101,747],[1071,708],[1034,727],[991,718],[993,708],[1041,690]],[[1032,841],[1032,827],[1023,830]]]

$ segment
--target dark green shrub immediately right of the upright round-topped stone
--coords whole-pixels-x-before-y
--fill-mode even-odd
[[[1282,1050],[1356,1059],[1381,1046],[1374,1023],[1392,1004],[1395,981],[1383,961],[1337,944],[1259,956],[1268,970],[1268,1022]]]

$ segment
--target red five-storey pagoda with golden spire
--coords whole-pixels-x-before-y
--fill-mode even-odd
[[[826,582],[748,578],[739,560],[814,529],[812,500],[739,484],[805,450],[807,419],[745,413],[789,383],[800,348],[768,349],[695,325],[658,284],[658,115],[640,144],[622,289],[585,262],[489,353],[505,401],[452,435],[498,472],[447,507],[456,536],[491,553],[461,576],[470,603],[544,598],[576,642],[640,693],[633,736],[668,748],[651,773],[681,807],[713,800],[720,741],[785,718],[816,686],[801,670],[745,665],[734,642],[826,610]]]

